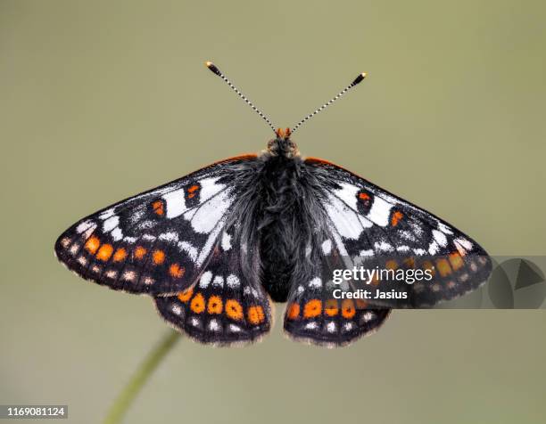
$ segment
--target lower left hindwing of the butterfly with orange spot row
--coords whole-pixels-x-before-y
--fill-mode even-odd
[[[163,319],[201,343],[249,343],[271,328],[269,296],[260,284],[259,258],[252,254],[256,249],[242,246],[236,233],[234,227],[225,230],[193,286],[176,296],[155,298]]]

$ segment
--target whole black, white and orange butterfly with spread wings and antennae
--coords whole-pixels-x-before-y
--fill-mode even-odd
[[[55,253],[84,279],[153,297],[175,329],[205,344],[256,341],[285,303],[296,340],[344,346],[378,330],[393,307],[426,307],[479,287],[491,260],[476,241],[422,208],[327,160],[304,159],[292,140],[221,160],[81,219]],[[366,300],[358,281],[333,280],[352,265],[426,271],[432,281],[394,283],[404,298]],[[369,281],[368,281],[369,282]],[[372,281],[372,286],[378,281]]]

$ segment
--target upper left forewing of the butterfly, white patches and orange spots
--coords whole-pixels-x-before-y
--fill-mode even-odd
[[[131,293],[177,293],[195,281],[244,191],[255,155],[204,167],[72,225],[55,243],[81,277]]]

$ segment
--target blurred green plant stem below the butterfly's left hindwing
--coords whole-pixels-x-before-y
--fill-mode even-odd
[[[121,422],[123,416],[131,404],[133,404],[138,392],[144,387],[146,381],[150,379],[153,371],[155,371],[165,355],[169,353],[170,349],[178,341],[178,338],[180,338],[180,334],[174,330],[170,330],[163,336],[157,346],[146,356],[144,362],[136,369],[118,397],[116,397],[103,421],[104,424],[118,424]]]

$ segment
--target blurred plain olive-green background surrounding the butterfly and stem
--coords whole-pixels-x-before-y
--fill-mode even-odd
[[[0,404],[101,420],[167,330],[54,258],[82,216],[217,159],[360,72],[294,137],[492,255],[543,255],[541,1],[0,1]],[[127,422],[544,422],[544,311],[396,311],[337,350],[181,340]],[[66,421],[64,421],[66,422]]]

